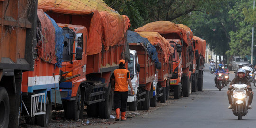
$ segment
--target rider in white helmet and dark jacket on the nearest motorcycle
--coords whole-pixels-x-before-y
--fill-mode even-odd
[[[248,80],[245,78],[245,74],[246,71],[244,69],[238,69],[237,72],[237,76],[230,82],[229,87],[232,87],[233,84],[247,84],[248,87],[248,91],[247,91],[247,96],[249,96],[249,100],[248,100],[248,109],[251,109],[251,104],[252,104],[252,99],[253,99],[253,92],[251,90],[251,83],[248,82]],[[228,90],[227,91],[227,95],[228,95],[228,100],[229,100],[229,109],[232,109],[232,98],[231,95],[233,95],[233,91]]]

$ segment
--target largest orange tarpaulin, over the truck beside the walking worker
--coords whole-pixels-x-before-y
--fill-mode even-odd
[[[88,55],[101,52],[102,46],[108,50],[109,46],[125,43],[129,18],[121,16],[102,0],[38,0],[38,8],[58,14],[60,19],[50,15],[56,22],[87,27]]]

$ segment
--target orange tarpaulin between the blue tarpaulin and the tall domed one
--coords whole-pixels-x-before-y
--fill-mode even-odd
[[[165,63],[168,62],[169,56],[174,53],[174,48],[158,32],[137,32],[141,37],[145,37],[152,45],[159,45],[165,55]],[[160,59],[160,58],[159,58]]]

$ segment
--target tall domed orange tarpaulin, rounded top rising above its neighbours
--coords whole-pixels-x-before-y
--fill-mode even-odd
[[[169,33],[176,33],[180,36],[180,38],[185,42],[187,45],[191,45],[193,33],[192,31],[185,25],[177,25],[170,21],[156,21],[151,22],[143,27],[139,27],[135,29],[136,32],[141,31],[154,31],[158,32],[159,34],[169,34]],[[174,39],[174,38],[172,38]]]

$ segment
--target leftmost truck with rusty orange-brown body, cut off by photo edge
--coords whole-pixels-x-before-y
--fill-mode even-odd
[[[18,128],[22,72],[34,70],[37,0],[0,0],[0,128]]]

